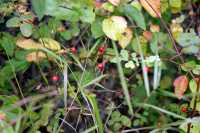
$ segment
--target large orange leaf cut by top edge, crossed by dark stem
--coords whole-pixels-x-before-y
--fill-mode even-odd
[[[161,17],[160,0],[140,0],[140,3],[152,17]]]

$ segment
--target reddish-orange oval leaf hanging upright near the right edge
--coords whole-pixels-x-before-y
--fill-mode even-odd
[[[188,88],[188,79],[185,75],[179,76],[174,81],[174,91],[178,99],[181,99]]]

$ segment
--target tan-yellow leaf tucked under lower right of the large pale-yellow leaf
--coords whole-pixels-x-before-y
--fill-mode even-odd
[[[121,48],[125,48],[131,41],[133,35],[132,30],[130,28],[126,28],[125,32],[121,34],[119,39],[119,45]]]

